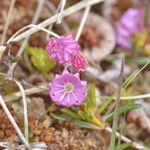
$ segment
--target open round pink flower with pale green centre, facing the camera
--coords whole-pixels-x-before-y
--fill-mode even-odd
[[[79,74],[71,74],[67,70],[56,75],[49,87],[50,97],[57,105],[80,106],[87,96],[86,81],[81,81]]]

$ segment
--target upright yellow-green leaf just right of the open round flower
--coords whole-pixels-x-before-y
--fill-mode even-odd
[[[91,87],[88,89],[88,96],[83,104],[83,107],[86,112],[94,112],[96,109],[97,103],[96,103],[96,95],[95,95],[95,85],[92,84]]]

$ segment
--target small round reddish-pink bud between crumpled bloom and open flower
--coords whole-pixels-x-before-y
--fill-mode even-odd
[[[83,71],[86,67],[86,60],[80,53],[75,53],[71,57],[71,64],[76,71]]]

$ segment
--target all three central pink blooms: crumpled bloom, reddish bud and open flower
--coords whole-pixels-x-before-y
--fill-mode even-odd
[[[49,56],[59,63],[69,63],[76,71],[85,69],[86,60],[71,35],[50,38],[46,50]],[[65,107],[79,106],[87,96],[86,81],[81,81],[78,73],[72,74],[67,70],[62,75],[56,75],[49,88],[52,101]]]

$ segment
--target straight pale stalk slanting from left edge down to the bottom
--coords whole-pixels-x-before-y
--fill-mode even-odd
[[[14,120],[13,116],[12,116],[11,113],[9,112],[9,110],[8,110],[8,108],[7,108],[7,106],[6,106],[5,102],[4,102],[4,99],[2,98],[1,95],[0,95],[0,104],[1,104],[1,106],[3,107],[5,113],[7,114],[7,116],[8,116],[8,118],[9,118],[10,122],[11,122],[12,125],[13,125],[13,127],[15,128],[15,130],[16,130],[18,136],[20,137],[20,139],[22,140],[22,142],[26,145],[26,147],[27,147],[28,149],[30,149],[30,145],[29,145],[28,141],[27,141],[27,140],[25,139],[25,137],[23,136],[21,130],[19,129],[19,127],[18,127],[16,121]]]

